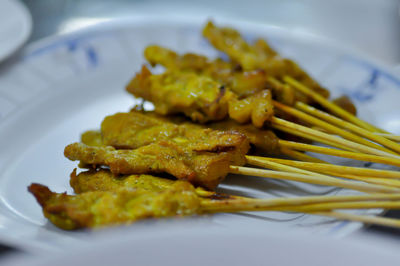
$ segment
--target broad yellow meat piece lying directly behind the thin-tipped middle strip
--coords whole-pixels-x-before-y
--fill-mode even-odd
[[[236,131],[175,124],[151,112],[132,110],[106,117],[101,124],[102,142],[117,149],[136,149],[158,141],[172,141],[195,152],[227,152],[232,163],[243,165],[249,150],[246,136]]]

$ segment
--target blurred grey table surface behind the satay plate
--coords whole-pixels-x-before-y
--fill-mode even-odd
[[[161,0],[24,0],[33,18],[33,33],[28,43],[46,36],[66,33],[111,19],[127,18],[144,12],[166,10],[196,12],[211,17],[224,15],[330,38],[355,47],[386,65],[400,64],[400,21],[397,0],[282,0],[261,1],[161,1]],[[210,5],[212,3],[212,5]],[[213,7],[213,8],[210,8]],[[222,10],[222,11],[221,11]],[[337,17],[340,16],[340,20]],[[374,36],[374,38],[371,38]],[[386,217],[400,218],[400,211]],[[400,230],[380,226],[361,233],[378,233],[399,239]],[[0,244],[0,255],[19,252]]]

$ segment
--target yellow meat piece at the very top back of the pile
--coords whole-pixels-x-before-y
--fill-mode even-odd
[[[232,61],[240,64],[244,70],[263,69],[268,76],[281,79],[289,75],[302,82],[324,97],[329,97],[329,91],[322,88],[304,70],[292,60],[282,58],[264,40],[248,44],[240,33],[232,28],[219,28],[208,22],[203,29],[203,35],[218,50],[226,53]],[[311,99],[296,93],[298,101],[310,102]]]

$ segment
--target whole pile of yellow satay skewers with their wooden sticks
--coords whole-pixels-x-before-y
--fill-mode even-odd
[[[68,159],[87,169],[71,174],[76,195],[29,187],[52,223],[77,229],[149,217],[285,211],[400,227],[395,219],[340,212],[400,208],[400,172],[334,165],[304,153],[400,166],[396,136],[357,118],[346,97],[330,101],[326,89],[264,40],[249,44],[212,22],[203,35],[229,61],[147,47],[146,60],[165,71],[143,66],[127,91],[154,110],[135,106],[108,116],[99,131],[65,148]],[[215,192],[229,173],[362,193],[255,199]]]

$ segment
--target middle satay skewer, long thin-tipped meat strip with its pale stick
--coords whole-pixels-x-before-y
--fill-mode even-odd
[[[90,147],[82,143],[74,143],[66,147],[65,155],[70,160],[79,160],[85,165],[108,166],[115,174],[167,172],[178,179],[189,180],[193,184],[210,189],[215,188],[228,173],[234,173],[336,186],[363,192],[394,193],[400,191],[398,188],[353,182],[330,176],[322,176],[321,174],[305,175],[293,173],[293,171],[278,172],[239,167],[232,165],[231,157],[226,153],[209,154],[206,155],[207,157],[204,157],[204,154],[196,155],[195,152],[189,153],[189,149],[186,149],[186,152],[182,154],[175,150],[177,148],[175,144],[166,145],[166,143],[153,143],[135,150],[116,150],[110,146]],[[242,152],[239,152],[239,154],[243,156],[245,162],[245,155]],[[184,161],[189,164],[184,163]],[[243,160],[240,159],[240,161]]]

